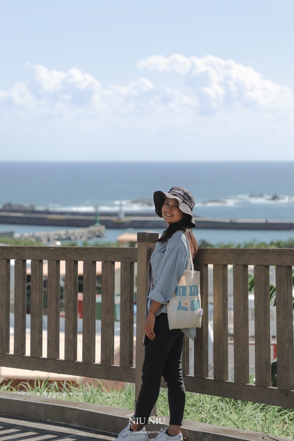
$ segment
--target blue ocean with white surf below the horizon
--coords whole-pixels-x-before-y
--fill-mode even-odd
[[[0,205],[152,211],[153,192],[173,185],[194,195],[196,216],[294,219],[294,162],[0,162]],[[7,229],[44,231],[0,224],[0,231]],[[104,240],[121,232],[108,230]],[[294,237],[291,231],[195,229],[195,234],[198,240],[236,243]]]

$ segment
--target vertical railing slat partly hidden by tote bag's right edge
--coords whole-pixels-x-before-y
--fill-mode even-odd
[[[196,329],[194,342],[194,375],[208,377],[208,265],[198,265],[200,270],[200,297],[203,316],[201,328]]]

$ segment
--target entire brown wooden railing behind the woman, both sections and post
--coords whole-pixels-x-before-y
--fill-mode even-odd
[[[135,383],[144,359],[147,269],[157,233],[138,233],[138,248],[0,247],[0,366]],[[10,259],[15,259],[14,349],[9,353]],[[25,355],[26,260],[31,260],[30,355]],[[48,260],[47,357],[42,357],[43,261]],[[66,261],[65,352],[59,358],[60,261]],[[83,270],[82,361],[77,361],[77,262]],[[102,262],[101,358],[95,363],[96,262]],[[114,262],[121,262],[120,366],[114,365]],[[134,263],[138,262],[136,368],[133,367]],[[208,265],[213,265],[214,378],[208,378]],[[228,380],[227,265],[233,265],[234,381]],[[248,265],[254,265],[255,385],[249,382]],[[277,388],[270,373],[270,272],[276,267]],[[183,348],[187,391],[294,408],[292,249],[199,249],[203,307],[189,375],[189,341]],[[164,384],[162,384],[164,386]]]

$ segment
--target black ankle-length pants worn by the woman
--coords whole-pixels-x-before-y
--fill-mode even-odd
[[[169,329],[168,315],[165,313],[156,317],[154,334],[154,340],[146,338],[142,368],[143,384],[138,397],[135,418],[141,418],[142,424],[147,424],[158,398],[161,376],[163,376],[168,385],[170,424],[180,426],[183,423],[185,408],[185,386],[182,374],[184,334],[180,329]]]

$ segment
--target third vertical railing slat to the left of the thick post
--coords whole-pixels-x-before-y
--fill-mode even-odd
[[[84,262],[83,271],[83,362],[95,363],[96,262]]]

